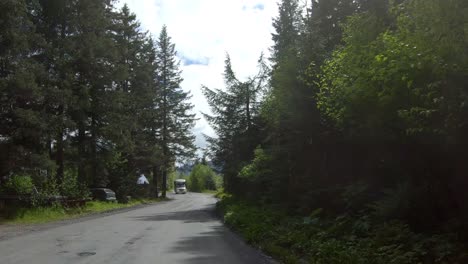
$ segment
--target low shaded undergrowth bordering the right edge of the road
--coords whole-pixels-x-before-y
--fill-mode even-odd
[[[328,219],[320,209],[302,219],[229,195],[222,196],[218,209],[227,225],[284,263],[456,263],[463,247],[447,236],[416,234],[399,221]]]

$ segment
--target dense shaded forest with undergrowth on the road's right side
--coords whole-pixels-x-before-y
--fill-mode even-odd
[[[306,2],[203,88],[226,222],[290,263],[466,263],[468,1]]]

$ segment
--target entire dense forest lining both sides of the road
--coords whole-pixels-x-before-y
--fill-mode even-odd
[[[468,1],[278,11],[258,71],[227,55],[201,88],[216,136],[189,189],[222,184],[224,221],[285,263],[468,263]],[[0,193],[125,200],[144,173],[165,197],[196,150],[181,82],[126,5],[0,1]]]

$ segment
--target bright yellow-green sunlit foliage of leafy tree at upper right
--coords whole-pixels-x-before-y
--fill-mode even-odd
[[[464,41],[457,37],[466,24],[458,12],[461,5],[460,1],[405,1],[392,13],[397,21],[392,30],[374,14],[350,18],[345,45],[323,67],[322,112],[352,135],[379,139],[394,139],[405,132],[447,135],[453,131],[448,126],[462,123],[458,115],[464,110],[449,114],[447,107],[457,108],[466,100],[460,84],[451,79],[464,75],[461,65],[467,62],[466,52],[460,49]],[[439,21],[437,27],[434,21]],[[450,32],[443,41],[438,38],[442,32]],[[450,121],[447,115],[452,116]]]

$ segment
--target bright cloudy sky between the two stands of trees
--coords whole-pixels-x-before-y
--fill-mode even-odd
[[[226,53],[240,79],[254,75],[263,52],[272,45],[272,19],[277,15],[274,0],[120,0],[137,15],[141,29],[155,38],[163,25],[176,45],[181,62],[181,86],[192,94],[199,120],[193,129],[196,145],[206,147],[202,134],[214,131],[202,117],[210,113],[201,86],[224,87],[222,73]]]

